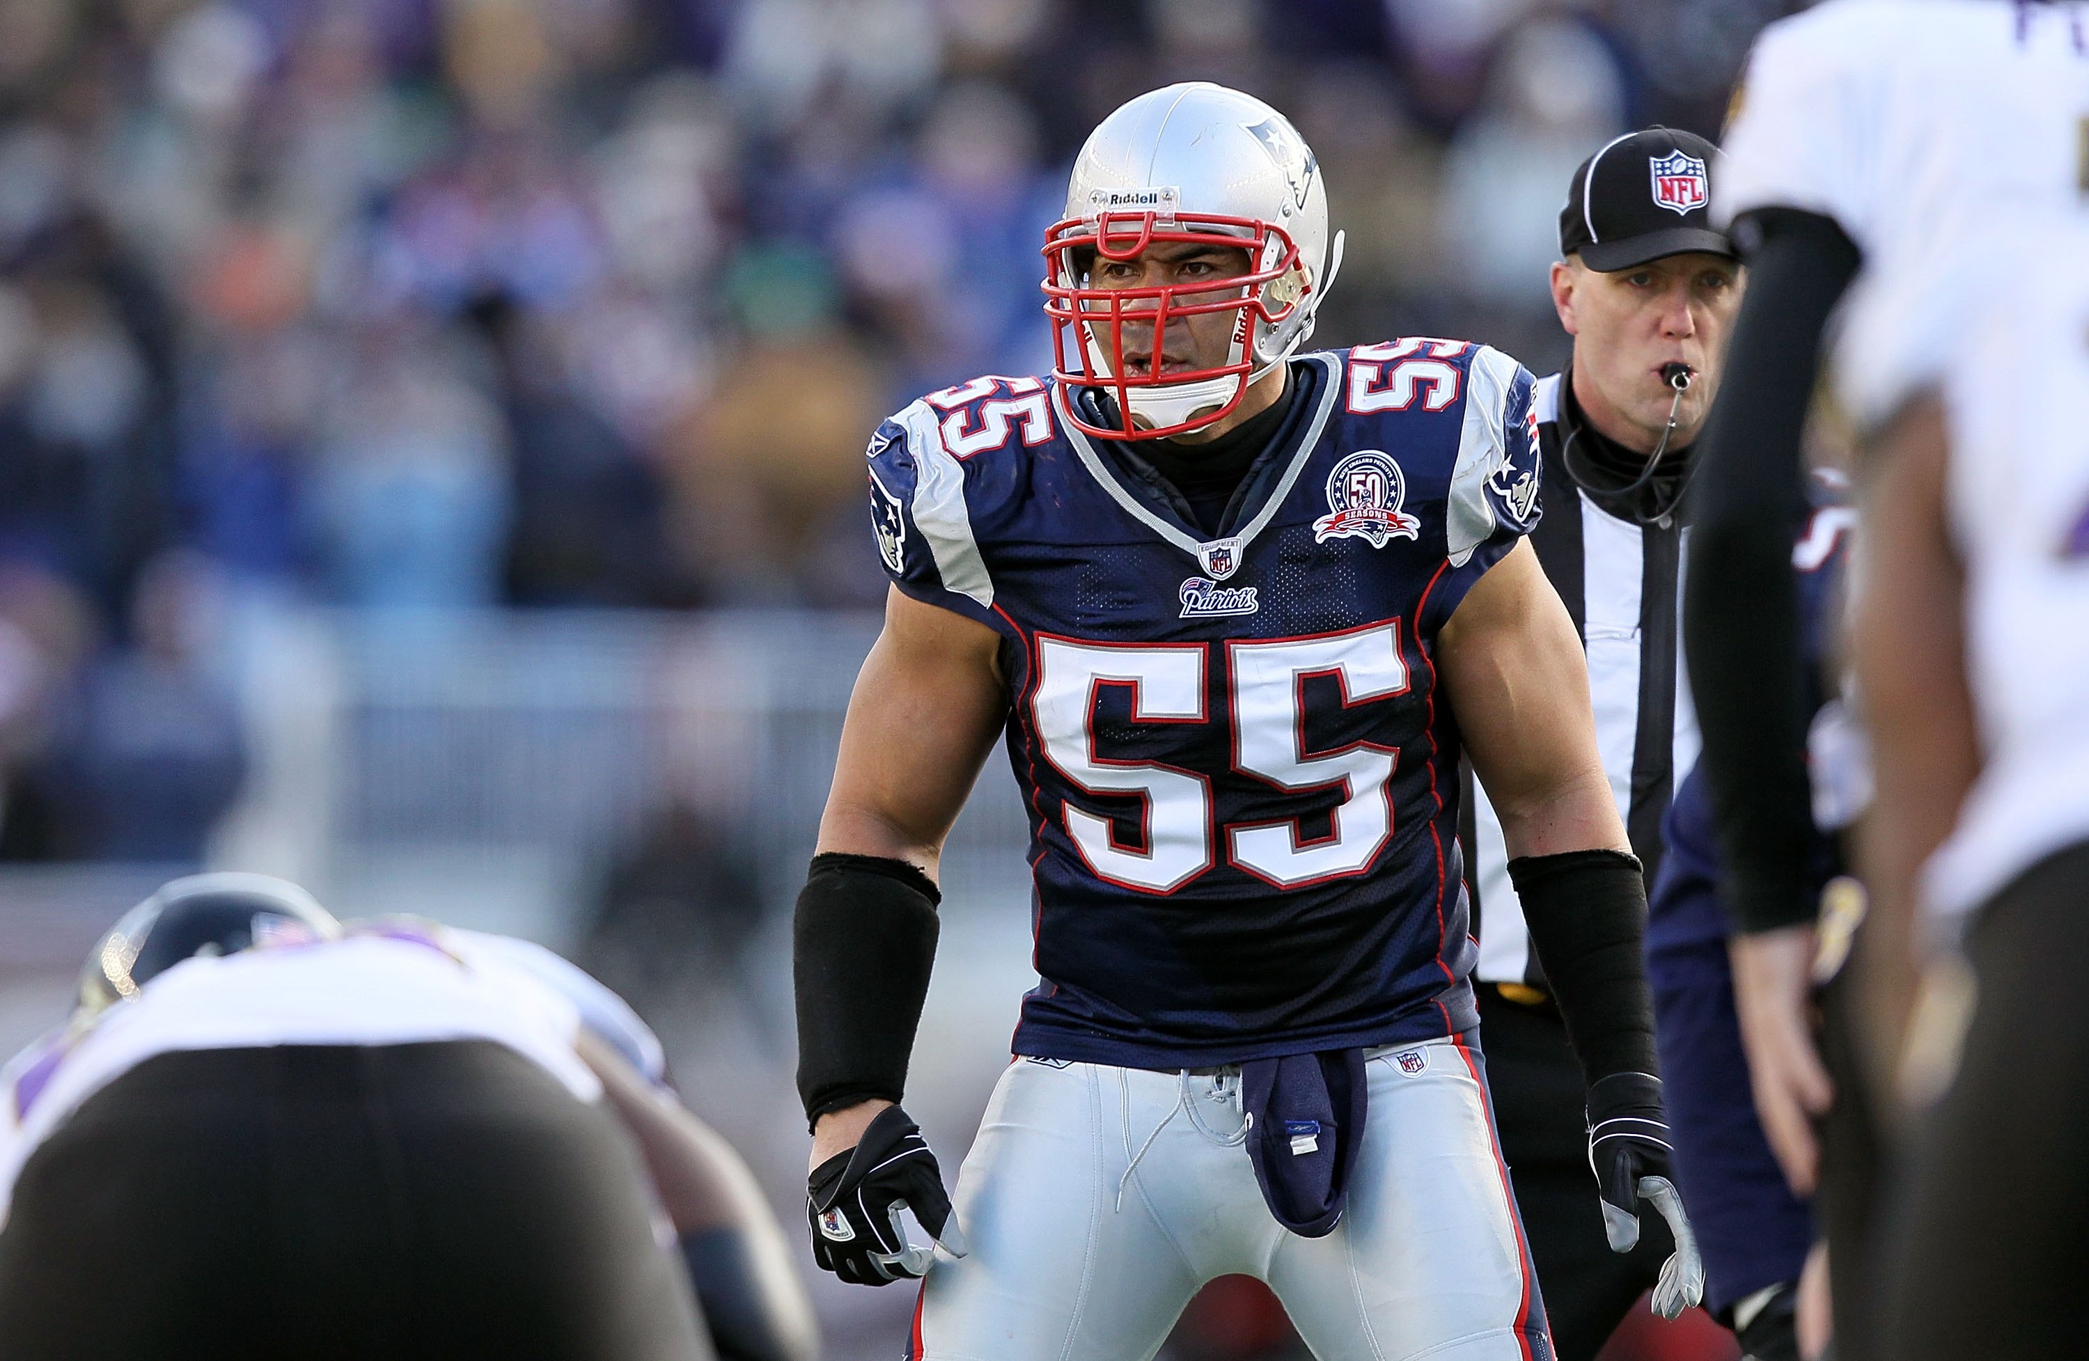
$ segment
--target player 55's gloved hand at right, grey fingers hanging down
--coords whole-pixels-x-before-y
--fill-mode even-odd
[[[1675,1252],[1661,1263],[1654,1313],[1673,1319],[1705,1298],[1705,1259],[1669,1175],[1669,1121],[1661,1079],[1611,1073],[1588,1090],[1588,1165],[1602,1196],[1602,1232],[1613,1252],[1640,1246],[1642,1200],[1669,1221]]]

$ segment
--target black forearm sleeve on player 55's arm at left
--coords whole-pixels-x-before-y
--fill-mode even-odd
[[[879,856],[813,856],[792,918],[798,1098],[808,1121],[861,1100],[898,1102],[936,960],[928,875]]]

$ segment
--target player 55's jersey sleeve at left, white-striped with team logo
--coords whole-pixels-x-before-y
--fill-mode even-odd
[[[994,582],[971,530],[967,465],[944,449],[936,413],[913,403],[877,426],[867,455],[871,532],[892,584],[996,626]]]

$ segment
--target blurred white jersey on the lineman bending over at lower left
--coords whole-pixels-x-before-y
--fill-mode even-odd
[[[549,954],[426,925],[182,960],[136,998],[77,1019],[0,1069],[0,1223],[29,1154],[88,1098],[159,1054],[489,1040],[539,1065],[579,1100],[597,1100],[602,1083],[574,1040],[583,1002],[600,1006],[587,992],[608,989],[570,964],[587,987],[547,981],[541,960],[518,966],[531,952]]]

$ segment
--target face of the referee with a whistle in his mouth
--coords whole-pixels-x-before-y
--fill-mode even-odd
[[[1652,451],[1675,397],[1661,369],[1688,363],[1694,376],[1673,436],[1688,445],[1719,392],[1740,288],[1740,265],[1723,255],[1671,255],[1613,273],[1579,259],[1554,265],[1552,303],[1575,338],[1575,397],[1596,428]]]

